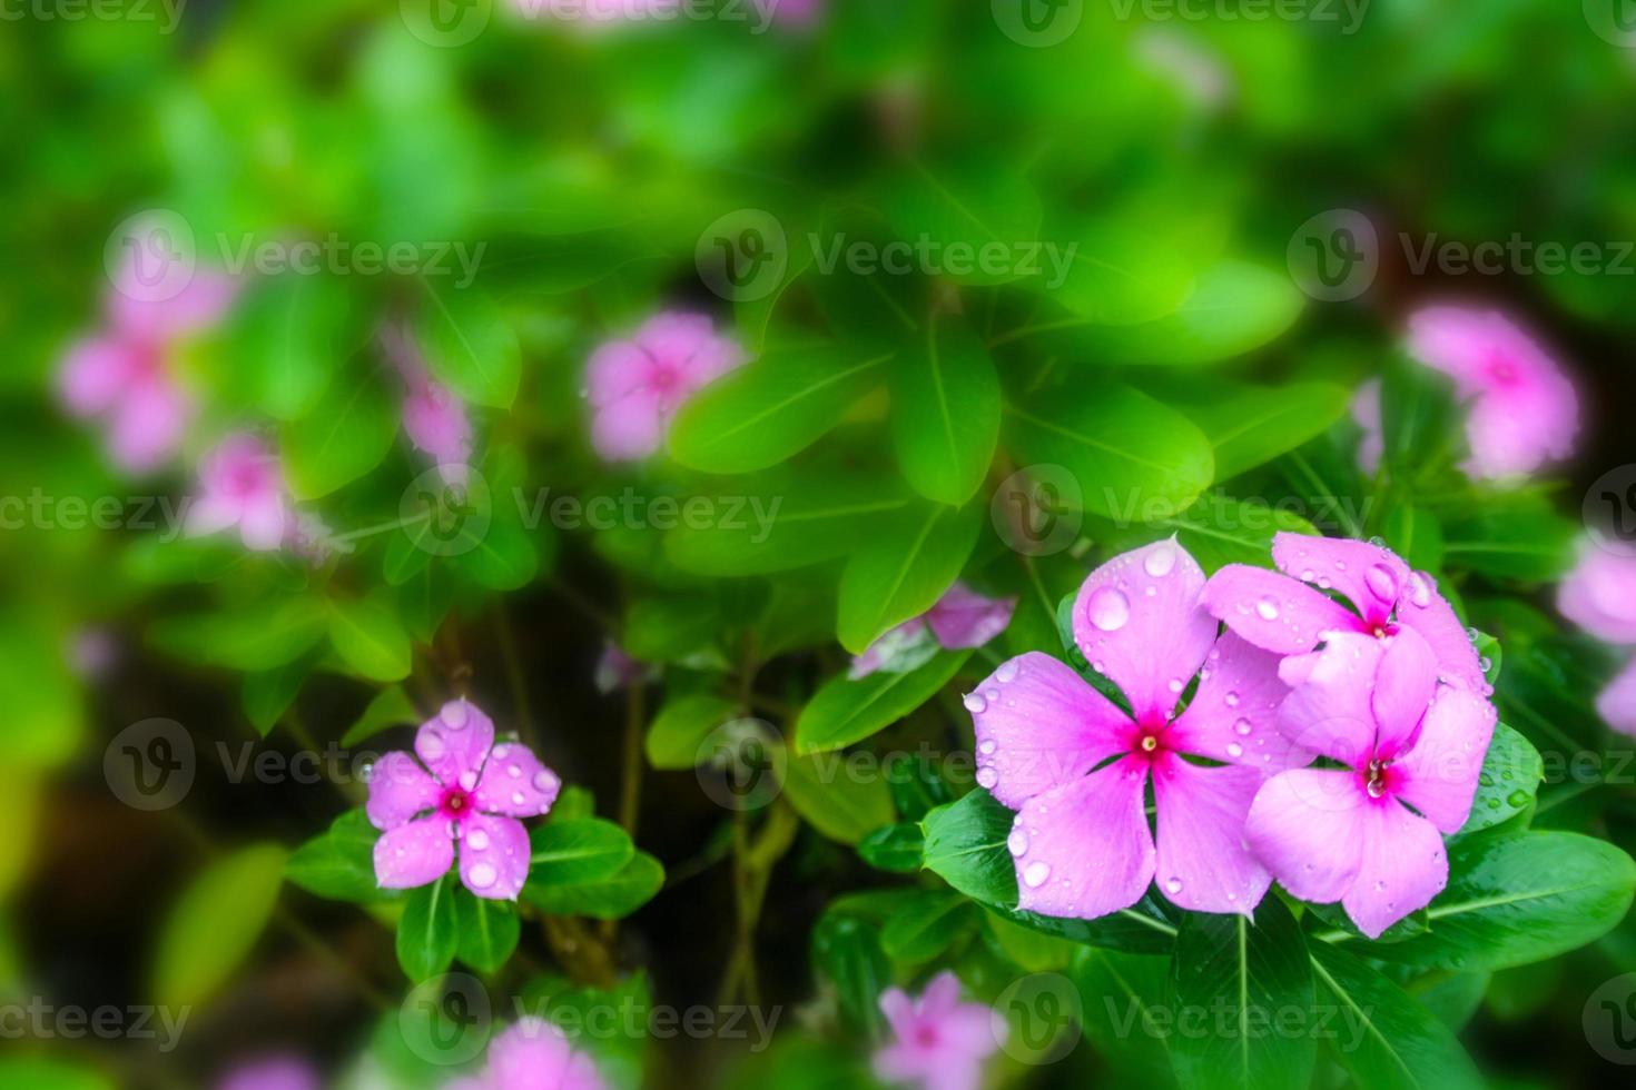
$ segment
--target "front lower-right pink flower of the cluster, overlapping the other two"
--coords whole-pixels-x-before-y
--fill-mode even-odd
[[[1494,704],[1440,683],[1432,647],[1409,628],[1389,639],[1335,632],[1278,673],[1292,686],[1279,730],[1345,768],[1268,780],[1245,838],[1284,889],[1340,900],[1378,938],[1448,884],[1438,832],[1459,832],[1471,814]]]

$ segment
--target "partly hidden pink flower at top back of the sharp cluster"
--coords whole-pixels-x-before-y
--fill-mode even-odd
[[[1412,628],[1432,644],[1443,680],[1489,693],[1471,636],[1436,592],[1436,580],[1410,572],[1391,549],[1281,533],[1273,538],[1273,562],[1284,575],[1245,564],[1220,569],[1204,587],[1204,608],[1279,655],[1312,650],[1330,632],[1384,639]],[[1306,583],[1340,593],[1356,611]]]

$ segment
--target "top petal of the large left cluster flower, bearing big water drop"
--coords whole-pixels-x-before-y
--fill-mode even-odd
[[[1073,601],[1073,641],[1119,686],[1137,721],[1168,721],[1216,642],[1199,608],[1204,572],[1175,538],[1103,564]]]

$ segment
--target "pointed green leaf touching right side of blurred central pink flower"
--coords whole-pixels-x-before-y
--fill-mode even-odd
[[[890,355],[836,345],[779,348],[712,382],[671,425],[671,458],[703,472],[749,472],[807,449],[885,377]]]

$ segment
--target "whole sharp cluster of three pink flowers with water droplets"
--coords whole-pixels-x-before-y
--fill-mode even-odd
[[[1019,907],[1094,918],[1157,884],[1250,915],[1278,881],[1378,936],[1443,889],[1495,724],[1471,641],[1381,546],[1279,534],[1273,559],[1206,580],[1168,539],[1091,572],[1073,637],[1122,703],[1037,652],[965,698]]]

